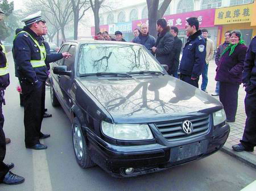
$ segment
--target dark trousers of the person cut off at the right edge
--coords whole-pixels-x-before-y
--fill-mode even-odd
[[[243,138],[240,142],[250,149],[256,146],[256,88],[246,93],[245,112],[247,116],[245,131],[243,131]]]

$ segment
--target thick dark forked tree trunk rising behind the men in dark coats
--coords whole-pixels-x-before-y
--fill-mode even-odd
[[[147,9],[148,9],[148,30],[150,35],[156,37],[156,20],[162,18],[164,12],[166,12],[168,6],[172,0],[164,0],[162,6],[158,9],[159,0],[147,0]]]

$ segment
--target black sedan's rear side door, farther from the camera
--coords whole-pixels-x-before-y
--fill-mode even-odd
[[[63,52],[67,52],[69,49],[69,45],[68,44],[64,44],[63,46],[61,46],[60,52],[59,53],[63,53]],[[59,95],[59,89],[60,89],[60,84],[59,84],[59,80],[60,80],[60,75],[57,74],[53,74],[53,67],[55,66],[61,66],[63,64],[64,59],[58,60],[56,62],[52,63],[52,67],[51,67],[51,83],[52,86],[55,90],[55,93],[57,95],[57,97],[60,97]]]

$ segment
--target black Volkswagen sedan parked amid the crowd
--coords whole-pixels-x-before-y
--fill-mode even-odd
[[[138,176],[220,150],[229,135],[222,104],[173,78],[144,46],[70,41],[51,65],[51,103],[72,122],[82,168]]]

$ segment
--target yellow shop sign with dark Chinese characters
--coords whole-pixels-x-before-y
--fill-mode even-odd
[[[214,24],[250,23],[253,4],[216,9]]]

